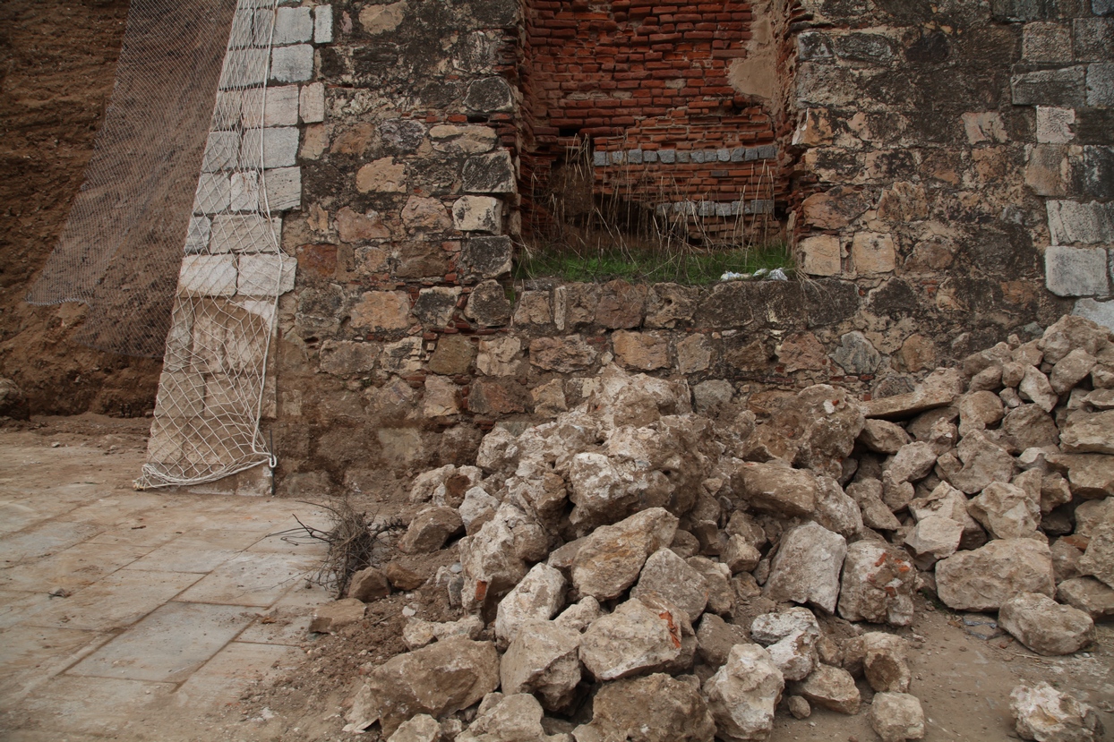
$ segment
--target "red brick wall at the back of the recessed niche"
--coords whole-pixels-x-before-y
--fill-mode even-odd
[[[752,21],[749,2],[526,0],[527,226],[544,219],[531,192],[578,139],[589,141],[596,195],[731,224],[768,211],[785,192],[774,121],[727,80]]]

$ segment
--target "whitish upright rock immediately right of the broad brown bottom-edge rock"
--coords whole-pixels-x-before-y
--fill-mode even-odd
[[[758,644],[736,644],[727,662],[704,682],[716,736],[724,742],[769,738],[784,687],[769,652]]]

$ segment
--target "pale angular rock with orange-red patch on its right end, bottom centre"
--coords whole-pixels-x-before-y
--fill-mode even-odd
[[[681,655],[687,621],[680,608],[658,612],[633,598],[592,622],[580,640],[580,662],[598,681],[663,670]]]

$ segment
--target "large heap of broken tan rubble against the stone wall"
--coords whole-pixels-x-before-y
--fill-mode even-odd
[[[831,385],[762,406],[731,392],[609,368],[580,408],[518,436],[497,428],[476,467],[418,477],[426,505],[397,546],[465,534],[436,576],[465,617],[411,618],[411,651],[370,671],[348,729],[763,740],[781,710],[859,713],[864,677],[879,736],[915,740],[907,640],[885,629],[911,624],[918,590],[997,612],[1046,655],[1114,617],[1106,330],[1065,316],[869,402]],[[391,583],[370,568],[352,592]],[[1047,685],[1019,687],[1013,707],[1025,739],[1101,735]]]

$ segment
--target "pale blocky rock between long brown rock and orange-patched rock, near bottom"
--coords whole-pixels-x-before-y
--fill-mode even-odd
[[[518,627],[499,663],[504,693],[534,693],[556,711],[568,705],[580,682],[580,632],[551,621]]]

